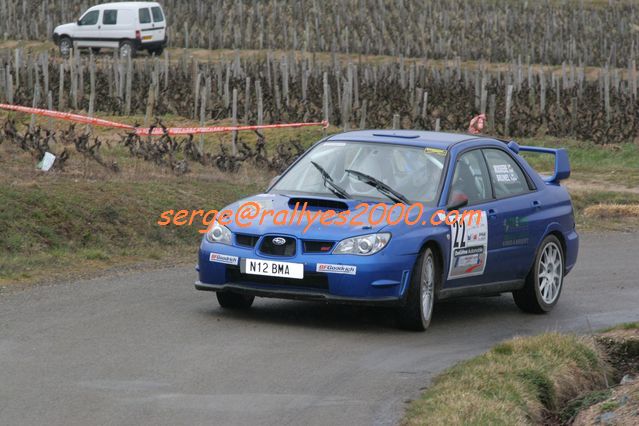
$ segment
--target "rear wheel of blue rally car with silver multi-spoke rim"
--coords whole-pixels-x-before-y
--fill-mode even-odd
[[[553,258],[549,253],[556,252]],[[546,261],[544,261],[546,259]],[[521,290],[513,291],[513,299],[519,309],[532,314],[550,312],[559,301],[564,284],[564,251],[554,235],[548,235],[539,245],[535,262]],[[543,269],[543,272],[542,272]]]

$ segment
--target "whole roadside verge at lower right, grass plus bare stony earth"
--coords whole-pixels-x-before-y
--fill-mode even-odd
[[[637,424],[638,373],[637,322],[594,339],[517,337],[446,370],[410,404],[402,423]]]

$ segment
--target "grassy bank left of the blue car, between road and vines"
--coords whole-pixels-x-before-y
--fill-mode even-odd
[[[195,259],[197,226],[157,224],[165,210],[219,209],[254,184],[203,179],[76,181],[42,176],[0,187],[0,283],[146,260]]]

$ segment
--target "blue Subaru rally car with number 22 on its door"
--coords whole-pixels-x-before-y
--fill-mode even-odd
[[[521,151],[554,155],[552,176]],[[282,223],[276,214],[250,226],[215,222],[195,287],[232,309],[255,296],[391,305],[412,330],[426,329],[434,302],[451,297],[512,292],[523,311],[548,312],[577,260],[573,206],[559,184],[569,176],[563,149],[409,130],[332,135],[265,193],[227,209],[250,202],[293,214],[304,205],[306,215],[332,210],[348,221]],[[362,203],[388,206],[386,220],[379,206],[358,213]],[[479,213],[441,220],[453,210]]]

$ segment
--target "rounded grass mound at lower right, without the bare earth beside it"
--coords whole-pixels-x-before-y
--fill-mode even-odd
[[[546,333],[515,338],[446,370],[408,408],[407,425],[535,424],[603,385],[607,365],[592,343]]]

